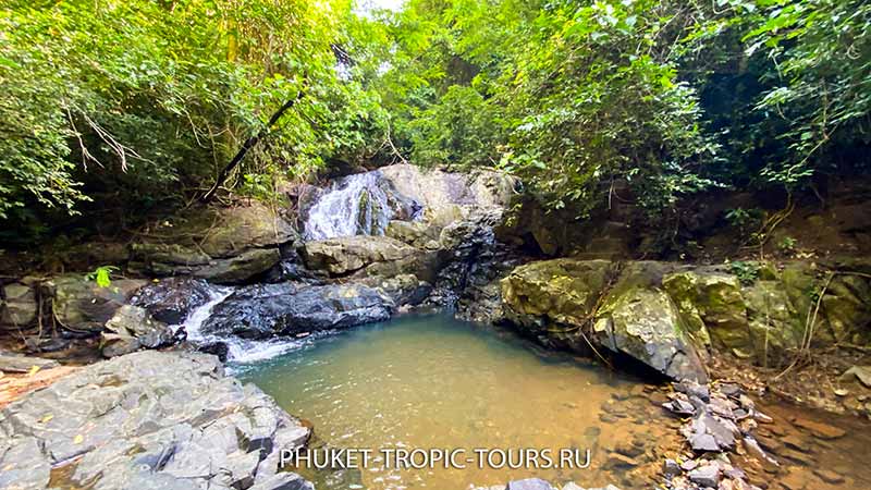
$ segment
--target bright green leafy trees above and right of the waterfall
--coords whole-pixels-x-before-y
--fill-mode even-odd
[[[717,145],[665,47],[677,10],[640,2],[410,1],[380,78],[422,164],[498,167],[579,213],[628,181],[662,209],[713,184]],[[680,22],[688,21],[684,14]]]

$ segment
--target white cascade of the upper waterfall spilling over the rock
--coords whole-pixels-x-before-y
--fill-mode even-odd
[[[397,215],[414,218],[419,205],[398,195],[378,171],[348,175],[333,183],[308,211],[304,237],[383,235]]]

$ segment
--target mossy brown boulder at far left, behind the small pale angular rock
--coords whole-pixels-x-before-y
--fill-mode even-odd
[[[100,287],[81,275],[63,275],[45,285],[54,297],[54,317],[62,327],[97,334],[145,283],[122,279],[112,281],[108,287]]]

